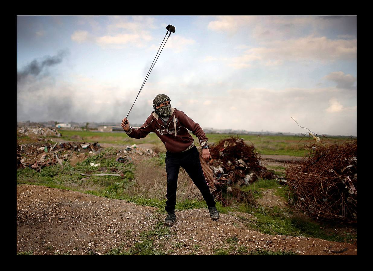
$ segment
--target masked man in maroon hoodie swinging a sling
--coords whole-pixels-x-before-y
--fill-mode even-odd
[[[194,146],[193,137],[189,131],[197,136],[202,147],[202,157],[211,157],[207,137],[201,126],[195,123],[184,112],[172,108],[170,98],[167,95],[159,94],[154,98],[153,109],[145,123],[137,129],[129,126],[126,118],[122,120],[122,127],[129,137],[142,138],[153,132],[164,146],[166,146],[166,172],[167,172],[167,201],[164,209],[168,215],[164,220],[166,226],[175,224],[176,188],[180,167],[184,168],[194,184],[201,191],[204,200],[209,207],[212,220],[219,219],[219,212],[215,207],[215,200],[210,192],[200,162],[197,147]]]

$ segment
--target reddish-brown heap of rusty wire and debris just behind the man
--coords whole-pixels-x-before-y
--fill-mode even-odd
[[[236,201],[246,201],[255,205],[253,196],[239,189],[241,185],[248,185],[258,178],[273,179],[274,172],[263,166],[261,157],[253,144],[248,146],[243,138],[231,136],[220,140],[210,148],[211,159],[207,165],[213,176],[214,194],[223,204],[229,204],[224,195],[228,192]]]

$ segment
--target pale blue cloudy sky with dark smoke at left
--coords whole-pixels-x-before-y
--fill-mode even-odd
[[[119,125],[169,24],[130,123],[357,136],[357,16],[18,16],[17,121]]]

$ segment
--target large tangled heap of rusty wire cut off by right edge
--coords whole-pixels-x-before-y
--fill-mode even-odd
[[[318,220],[357,223],[357,140],[311,144],[301,163],[285,170],[298,210]]]

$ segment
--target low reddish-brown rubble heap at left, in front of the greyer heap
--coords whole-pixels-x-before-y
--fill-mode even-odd
[[[96,153],[100,150],[97,143],[68,142],[68,143],[29,143],[17,146],[17,167],[40,169],[62,164],[62,161],[69,160],[74,153]]]

